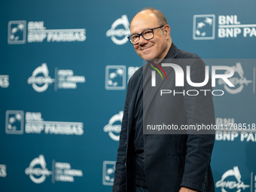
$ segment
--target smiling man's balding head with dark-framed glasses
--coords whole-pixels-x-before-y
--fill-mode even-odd
[[[157,17],[163,19],[158,20]],[[136,14],[130,25],[130,32],[130,40],[136,53],[145,60],[163,59],[172,45],[170,28],[165,17],[158,11],[148,10]],[[138,35],[141,32],[148,40]]]

